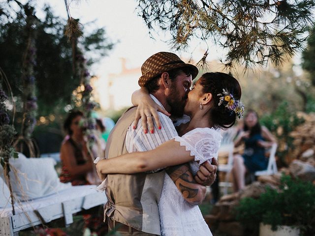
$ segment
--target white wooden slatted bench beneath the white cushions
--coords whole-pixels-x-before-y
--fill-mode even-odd
[[[18,232],[42,223],[64,217],[65,225],[73,223],[72,214],[107,202],[105,193],[95,185],[71,186],[56,194],[0,208],[0,236],[18,236]]]

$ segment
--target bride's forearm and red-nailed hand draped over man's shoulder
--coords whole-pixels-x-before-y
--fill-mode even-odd
[[[149,124],[149,131],[154,132],[153,118],[155,119],[158,128],[161,127],[161,123],[158,118],[158,112],[161,112],[166,116],[171,115],[162,107],[160,107],[155,101],[153,101],[146,88],[141,88],[134,91],[131,95],[131,102],[133,105],[138,106],[133,122],[133,127],[137,127],[138,121],[141,118],[141,124],[145,132],[148,132],[147,122]]]

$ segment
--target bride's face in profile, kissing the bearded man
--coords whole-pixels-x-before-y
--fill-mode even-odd
[[[203,87],[200,85],[200,80],[198,80],[189,91],[184,110],[186,115],[194,114],[198,109],[200,109],[201,97],[203,95],[202,89]]]

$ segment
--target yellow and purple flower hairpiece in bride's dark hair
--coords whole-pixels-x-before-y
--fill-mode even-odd
[[[228,110],[235,112],[238,118],[243,117],[244,105],[240,100],[234,99],[232,93],[223,89],[223,92],[219,93],[218,96],[220,96],[219,106],[223,105]]]

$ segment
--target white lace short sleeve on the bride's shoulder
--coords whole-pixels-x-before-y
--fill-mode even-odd
[[[214,128],[196,128],[182,137],[175,137],[175,141],[181,146],[185,146],[190,155],[194,156],[199,165],[213,157],[218,159],[219,147],[221,144],[220,129]]]

